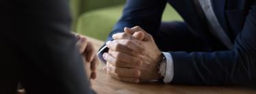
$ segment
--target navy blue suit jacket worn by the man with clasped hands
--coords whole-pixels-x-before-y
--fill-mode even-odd
[[[205,52],[170,51],[174,63],[172,82],[256,84],[256,1],[212,1],[220,25],[234,44],[231,50],[209,33],[193,0],[127,0],[123,16],[107,40],[112,40],[112,34],[123,32],[124,27],[137,25],[154,36],[159,30],[166,3],[170,3],[194,35],[208,46],[221,48]]]

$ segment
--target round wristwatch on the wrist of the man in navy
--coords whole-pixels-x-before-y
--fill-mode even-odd
[[[162,53],[162,60],[159,61],[159,74],[161,76],[162,79],[164,79],[164,77],[166,76],[166,57],[164,56],[164,54]]]

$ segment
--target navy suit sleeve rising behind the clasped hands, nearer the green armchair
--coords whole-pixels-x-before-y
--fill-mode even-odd
[[[114,26],[113,31],[107,37],[107,41],[113,40],[112,35],[123,32],[125,27],[140,26],[151,35],[155,35],[153,33],[159,29],[165,6],[166,1],[164,0],[127,0],[123,16]],[[105,51],[107,51],[107,48],[99,52],[102,61],[104,60],[101,57]]]

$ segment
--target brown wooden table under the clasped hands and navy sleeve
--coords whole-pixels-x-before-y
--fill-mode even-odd
[[[88,37],[88,40],[94,43],[98,50],[103,42]],[[92,80],[92,88],[100,94],[113,93],[255,93],[256,89],[246,89],[242,87],[205,87],[205,86],[188,86],[180,84],[164,84],[161,82],[143,82],[139,84],[132,84],[128,82],[121,82],[112,78],[103,72],[105,64],[100,62],[97,72],[97,79]]]

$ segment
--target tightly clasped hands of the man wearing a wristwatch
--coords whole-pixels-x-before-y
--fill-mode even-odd
[[[125,82],[159,79],[162,53],[149,33],[140,27],[125,28],[125,33],[116,33],[113,39],[107,42],[109,52],[103,54],[108,74]]]

